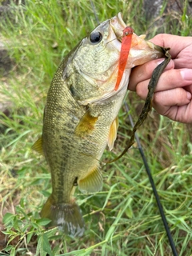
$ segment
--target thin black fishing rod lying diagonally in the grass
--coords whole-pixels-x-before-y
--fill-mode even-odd
[[[129,111],[130,111],[129,107],[128,107],[126,102],[124,104],[126,106],[126,112],[129,115],[130,125],[133,128],[134,127],[134,122],[133,122],[133,118],[131,117],[131,115],[129,113]],[[136,142],[138,144],[138,150],[139,150],[139,152],[140,152],[140,154],[142,156],[142,162],[144,163],[144,166],[146,167],[146,173],[147,173],[147,175],[148,175],[148,177],[150,179],[150,185],[152,186],[152,189],[153,189],[153,192],[154,192],[154,197],[156,199],[156,202],[157,202],[157,205],[158,205],[158,210],[159,210],[160,215],[162,217],[162,222],[164,224],[164,227],[165,227],[165,230],[166,230],[166,235],[167,235],[167,237],[169,239],[169,242],[170,242],[171,250],[173,251],[174,256],[178,256],[177,250],[176,250],[175,245],[174,245],[174,240],[172,238],[172,235],[170,234],[170,228],[169,228],[169,226],[167,224],[167,221],[166,221],[166,215],[165,215],[164,210],[162,208],[162,204],[161,204],[160,198],[158,196],[158,191],[156,190],[156,186],[154,184],[154,179],[153,179],[153,177],[151,175],[150,166],[148,165],[147,160],[146,160],[146,156],[144,154],[144,151],[142,150],[142,144],[141,144],[141,142],[140,142],[140,140],[138,138],[138,134],[135,133],[134,136],[135,136]]]

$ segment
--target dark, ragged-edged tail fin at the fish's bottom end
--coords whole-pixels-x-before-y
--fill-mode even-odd
[[[42,207],[41,217],[50,218],[51,222],[48,226],[58,226],[59,230],[70,237],[81,237],[84,233],[81,210],[75,202],[57,204],[50,196]]]

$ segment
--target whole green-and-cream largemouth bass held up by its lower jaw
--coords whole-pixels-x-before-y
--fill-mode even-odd
[[[102,190],[100,159],[106,146],[114,147],[131,69],[164,56],[160,46],[132,30],[127,47],[126,30],[119,13],[99,24],[66,55],[48,90],[42,137],[33,146],[45,156],[52,182],[52,193],[40,215],[50,219],[48,226],[58,226],[72,238],[82,237],[85,231],[75,189]],[[122,59],[119,76],[122,47],[129,52]]]

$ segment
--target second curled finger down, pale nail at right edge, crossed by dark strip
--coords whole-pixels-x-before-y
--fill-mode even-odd
[[[147,79],[146,81],[139,82],[138,86],[136,86],[136,92],[138,96],[142,99],[146,98],[149,82],[150,79]],[[166,70],[160,76],[155,92],[171,90],[174,88],[190,85],[192,85],[192,70]]]

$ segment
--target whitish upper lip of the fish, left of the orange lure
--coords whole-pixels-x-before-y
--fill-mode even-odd
[[[119,42],[122,42],[123,30],[126,28],[126,23],[122,19],[122,14],[118,13],[117,16],[110,18],[110,26],[114,30]]]

